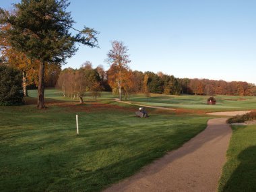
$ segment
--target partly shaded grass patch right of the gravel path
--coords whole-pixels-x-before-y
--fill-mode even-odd
[[[256,125],[232,126],[218,191],[256,191]]]

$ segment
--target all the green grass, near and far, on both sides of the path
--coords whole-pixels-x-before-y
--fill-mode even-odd
[[[205,96],[132,95],[131,102],[178,108],[147,108],[150,118],[140,119],[138,106],[113,102],[109,92],[80,105],[46,90],[44,110],[36,109],[36,90],[29,95],[27,105],[0,106],[0,191],[100,191],[205,129],[205,112],[256,108],[255,97],[216,96],[219,104],[207,106]],[[256,191],[256,126],[233,129],[220,191]]]

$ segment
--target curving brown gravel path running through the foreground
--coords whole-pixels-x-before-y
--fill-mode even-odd
[[[226,118],[210,119],[207,128],[181,148],[105,191],[216,191],[231,134]]]

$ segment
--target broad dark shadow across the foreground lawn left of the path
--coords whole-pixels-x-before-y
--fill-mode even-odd
[[[41,135],[43,133],[43,130],[38,130],[34,134]],[[187,134],[185,130],[177,129],[172,135],[177,139],[175,143],[167,136],[162,137],[161,143],[154,143],[152,137],[136,139],[134,135],[122,136],[123,139],[128,139],[129,143],[104,140],[104,135],[102,135],[102,137],[98,137],[98,144],[91,143],[91,147],[88,146],[90,142],[86,142],[86,138],[83,138],[85,135],[66,139],[61,137],[57,140],[40,138],[30,143],[20,143],[20,146],[18,144],[9,146],[6,143],[6,146],[2,146],[8,150],[4,150],[3,155],[8,157],[8,160],[4,162],[4,169],[1,170],[2,182],[0,183],[3,184],[3,191],[100,191],[112,183],[131,176],[145,164],[163,156],[166,151],[178,148],[195,132],[184,138],[185,134]],[[29,135],[32,136],[32,133]],[[214,137],[216,135],[213,135],[212,139]],[[84,140],[78,142],[75,141],[77,139]],[[194,147],[201,146],[205,141],[199,141],[198,146]],[[63,145],[63,143],[65,144]],[[149,143],[152,143],[150,149],[141,148]],[[127,149],[131,148],[131,151],[128,151],[131,155],[120,157],[118,152],[111,154],[111,150],[108,148],[118,145]],[[137,148],[141,148],[141,151],[138,151]],[[193,152],[193,150],[191,149],[189,152]],[[10,152],[13,155],[10,155]],[[98,155],[95,158],[95,153],[102,153],[102,156]],[[109,153],[107,156],[116,156],[120,160],[116,158],[111,162],[106,154],[104,156],[104,153]],[[122,151],[122,153],[125,152]],[[92,160],[90,160],[91,158]],[[85,162],[90,165],[88,166]],[[99,165],[94,166],[94,164]]]

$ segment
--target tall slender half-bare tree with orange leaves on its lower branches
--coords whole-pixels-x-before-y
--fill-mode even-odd
[[[125,76],[128,74],[128,63],[129,55],[127,55],[128,49],[123,42],[117,40],[112,42],[112,49],[108,51],[106,61],[110,63],[110,69],[108,70],[108,83],[111,88],[118,88],[119,90],[119,100],[122,100],[122,91],[124,89]]]

